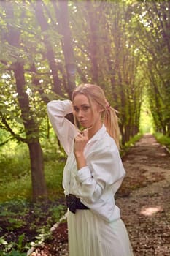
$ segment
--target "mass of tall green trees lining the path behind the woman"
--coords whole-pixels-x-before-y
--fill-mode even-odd
[[[169,1],[0,1],[1,145],[26,143],[33,198],[47,198],[41,139],[46,103],[98,83],[118,110],[122,144],[139,132],[147,94],[170,135]]]

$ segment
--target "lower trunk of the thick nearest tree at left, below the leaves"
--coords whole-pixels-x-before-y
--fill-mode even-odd
[[[39,143],[39,128],[34,121],[31,109],[29,108],[28,94],[26,94],[25,91],[23,64],[15,63],[13,64],[13,67],[18,91],[18,102],[30,153],[33,200],[36,201],[39,200],[39,198],[47,199],[42,148]]]

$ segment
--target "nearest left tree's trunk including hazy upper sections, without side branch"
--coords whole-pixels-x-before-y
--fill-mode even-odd
[[[15,19],[12,4],[4,4],[7,18],[11,20]],[[9,25],[8,29],[8,42],[10,45],[20,48],[20,29]],[[34,120],[33,113],[30,109],[30,103],[28,94],[26,94],[26,81],[24,77],[23,63],[14,61],[12,63],[12,70],[15,75],[16,87],[18,92],[18,102],[20,106],[21,116],[23,118],[23,126],[26,132],[26,143],[28,144],[31,155],[31,174],[32,187],[33,187],[33,199],[38,200],[39,197],[47,198],[47,189],[45,186],[44,168],[42,149],[39,143],[39,128]]]

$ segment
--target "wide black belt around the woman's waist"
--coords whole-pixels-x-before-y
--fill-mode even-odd
[[[66,195],[66,206],[69,208],[69,211],[72,211],[73,214],[76,213],[77,209],[88,210],[88,207],[80,201],[80,198],[77,198],[72,194]]]

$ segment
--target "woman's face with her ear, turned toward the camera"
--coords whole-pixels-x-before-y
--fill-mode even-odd
[[[84,128],[101,127],[101,111],[95,102],[91,105],[84,94],[77,94],[73,100],[73,111],[79,123]]]

